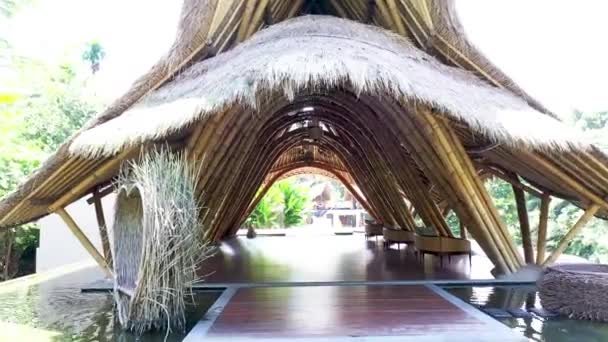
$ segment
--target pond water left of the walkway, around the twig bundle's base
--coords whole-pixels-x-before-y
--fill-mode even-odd
[[[163,341],[165,332],[146,334],[138,339],[122,331],[115,320],[110,293],[80,291],[83,285],[101,278],[97,267],[90,267],[40,284],[0,291],[0,340],[18,336],[23,341]],[[187,313],[188,330],[219,294],[195,295],[196,305]],[[10,327],[11,332],[5,327]],[[167,341],[181,341],[184,336],[185,333],[174,333]]]

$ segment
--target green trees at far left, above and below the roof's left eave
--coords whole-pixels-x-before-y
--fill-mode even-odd
[[[3,51],[5,52],[5,51]],[[99,105],[87,99],[78,65],[44,65],[6,50],[18,78],[0,93],[0,197],[13,191],[83,126]],[[88,77],[88,76],[87,76]],[[0,233],[0,280],[34,271],[35,225]]]

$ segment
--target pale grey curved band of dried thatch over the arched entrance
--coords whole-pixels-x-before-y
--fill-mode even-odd
[[[70,151],[112,155],[165,138],[235,103],[255,108],[269,95],[292,100],[306,89],[326,88],[424,103],[507,144],[581,142],[575,130],[521,98],[439,63],[403,37],[334,17],[306,16],[260,31],[233,50],[193,65],[119,118],[83,132]]]

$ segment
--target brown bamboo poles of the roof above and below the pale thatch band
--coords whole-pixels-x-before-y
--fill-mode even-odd
[[[475,79],[471,82],[476,88],[517,98],[542,113],[541,119],[557,122],[468,43],[452,1],[186,0],[170,52],[80,135],[120,119],[144,95],[156,89],[162,93],[179,83],[182,73],[202,68],[199,72],[204,77],[205,67],[213,65],[215,56],[226,56],[223,53],[249,41],[260,29],[284,21],[289,25],[288,19],[306,14],[326,14],[390,30],[412,46],[412,56],[420,59],[416,63],[430,63],[439,73],[457,70],[448,77],[461,82]],[[383,31],[361,30],[364,34],[357,35],[358,43],[382,48],[364,40],[366,34],[383,35]],[[417,213],[436,234],[452,236],[443,213],[454,210],[502,272],[516,270],[523,260],[483,187],[487,176],[503,178],[535,196],[557,196],[582,208],[601,208],[593,212],[598,215],[608,210],[608,159],[596,148],[505,143],[472,127],[467,118],[437,108],[434,104],[442,99],[399,98],[389,91],[390,86],[362,92],[350,87],[351,83],[317,84],[295,89],[290,96],[266,89],[263,98],[255,99],[255,108],[233,101],[214,108],[213,115],[167,129],[168,133],[154,139],[135,139],[113,155],[71,154],[74,140],[70,140],[0,203],[0,227],[56,212],[107,186],[122,162],[136,158],[142,148],[164,142],[203,162],[198,193],[209,213],[202,218],[206,234],[215,240],[234,234],[274,181],[308,167],[345,183],[370,214],[387,225],[414,230],[413,214]],[[196,87],[194,82],[191,85]],[[181,113],[163,115],[177,114]],[[529,139],[534,141],[534,135]]]

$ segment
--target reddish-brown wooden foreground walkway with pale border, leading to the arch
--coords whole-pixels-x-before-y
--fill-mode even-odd
[[[227,290],[184,340],[522,341],[433,286],[317,286]]]

